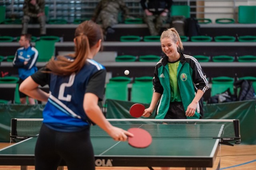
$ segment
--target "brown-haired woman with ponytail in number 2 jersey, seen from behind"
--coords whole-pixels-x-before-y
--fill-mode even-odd
[[[133,136],[112,126],[98,106],[104,95],[106,69],[92,58],[101,48],[102,37],[99,25],[84,21],[76,28],[75,53],[52,58],[20,85],[23,93],[47,102],[35,149],[36,170],[56,170],[61,160],[68,170],[94,170],[92,123],[116,141]],[[38,88],[46,84],[49,94]]]

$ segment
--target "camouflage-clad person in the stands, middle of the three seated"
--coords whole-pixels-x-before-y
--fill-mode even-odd
[[[118,23],[120,10],[125,20],[128,17],[128,7],[123,0],[101,0],[94,10],[92,21],[102,23],[104,35],[114,33],[112,26]]]

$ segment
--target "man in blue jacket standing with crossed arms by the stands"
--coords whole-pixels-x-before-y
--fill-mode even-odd
[[[16,51],[13,66],[18,68],[18,73],[20,80],[18,84],[20,85],[23,80],[28,76],[34,74],[37,71],[36,61],[38,58],[38,51],[35,47],[32,47],[30,34],[22,34],[20,36],[20,48]],[[20,102],[26,104],[26,95],[20,92]],[[33,98],[28,98],[30,104],[35,104]]]

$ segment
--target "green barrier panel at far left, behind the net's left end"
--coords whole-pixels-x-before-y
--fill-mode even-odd
[[[0,104],[0,142],[10,142],[12,118],[42,119],[44,105]]]

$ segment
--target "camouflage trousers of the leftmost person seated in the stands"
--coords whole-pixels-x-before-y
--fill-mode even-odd
[[[40,34],[44,35],[46,34],[46,27],[45,27],[45,23],[46,23],[46,17],[45,16],[40,16],[37,18],[39,25],[40,25]],[[28,23],[30,21],[30,16],[23,16],[22,18],[22,34],[27,33],[28,31]]]

